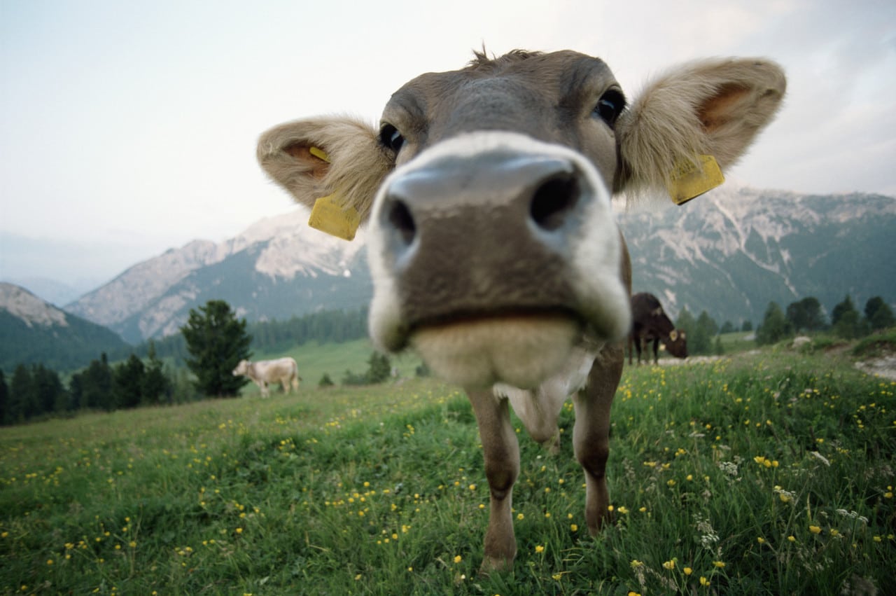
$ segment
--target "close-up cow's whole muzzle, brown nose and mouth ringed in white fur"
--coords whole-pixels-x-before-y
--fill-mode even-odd
[[[513,351],[511,341],[530,345],[527,353],[556,352],[554,343],[568,350],[585,330],[616,339],[619,325],[582,280],[599,265],[582,263],[597,232],[601,245],[610,237],[609,282],[621,285],[608,194],[590,163],[562,147],[520,137],[521,151],[517,135],[489,135],[473,147],[462,137],[443,143],[384,183],[372,222],[374,339],[401,350],[409,341],[420,349],[415,338],[451,338],[463,359],[491,358],[480,351],[487,343],[488,353]],[[444,341],[435,343],[444,353]],[[492,376],[486,383],[507,380]]]

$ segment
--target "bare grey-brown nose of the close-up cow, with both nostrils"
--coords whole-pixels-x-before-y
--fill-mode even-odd
[[[392,177],[378,255],[411,322],[532,312],[575,302],[584,211],[596,196],[563,156],[447,156]]]

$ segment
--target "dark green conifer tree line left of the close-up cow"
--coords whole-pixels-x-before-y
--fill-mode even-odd
[[[252,357],[250,346],[274,351],[307,341],[342,342],[366,336],[366,310],[324,311],[247,324],[224,300],[210,300],[190,310],[181,333],[148,341],[110,364],[104,352],[76,371],[67,386],[59,374],[42,364],[15,367],[7,380],[0,370],[0,424],[17,424],[49,414],[79,410],[118,410],[148,405],[190,402],[201,397],[233,397],[248,383],[232,370]],[[168,358],[173,367],[163,364]],[[388,358],[371,356],[364,375],[344,383],[375,383],[389,376]]]

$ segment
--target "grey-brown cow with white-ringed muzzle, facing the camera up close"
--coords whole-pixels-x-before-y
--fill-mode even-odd
[[[735,162],[785,87],[769,60],[720,58],[663,73],[630,100],[599,58],[483,50],[401,86],[378,126],[310,117],[261,135],[262,168],[298,203],[366,222],[375,345],[417,350],[467,393],[490,492],[482,573],[516,555],[510,405],[556,451],[572,396],[588,530],[609,521],[610,404],[631,325],[611,195],[684,202],[682,177]]]

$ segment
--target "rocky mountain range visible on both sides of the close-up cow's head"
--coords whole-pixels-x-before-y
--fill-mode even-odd
[[[352,242],[307,226],[297,209],[216,244],[195,240],[137,263],[65,307],[137,343],[177,333],[189,310],[227,300],[249,321],[366,306],[372,281],[363,230]],[[762,321],[814,296],[831,309],[849,294],[896,298],[896,198],[806,195],[728,183],[682,207],[618,214],[633,291],[656,294],[719,324]],[[0,312],[4,304],[0,302]],[[8,309],[7,309],[8,310]]]

